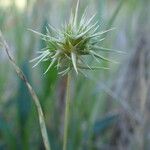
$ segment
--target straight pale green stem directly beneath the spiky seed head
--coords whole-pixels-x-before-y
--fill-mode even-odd
[[[71,80],[71,76],[68,73],[67,87],[66,87],[66,103],[65,103],[63,150],[67,150],[68,123],[69,123],[69,111],[70,111],[70,80]]]

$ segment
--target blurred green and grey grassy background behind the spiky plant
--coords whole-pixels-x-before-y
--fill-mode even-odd
[[[61,28],[75,5],[76,0],[0,0],[0,30],[40,99],[52,150],[62,149],[66,77],[55,68],[43,75],[46,63],[32,69],[29,61],[45,43],[28,28]],[[126,54],[104,53],[119,64],[103,62],[111,69],[72,77],[68,150],[149,150],[150,1],[80,0],[79,13],[87,6],[87,18],[97,13],[100,30],[116,28],[103,47]],[[36,108],[0,47],[0,150],[42,149]]]

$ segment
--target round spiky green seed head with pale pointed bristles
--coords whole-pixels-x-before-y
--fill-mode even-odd
[[[82,69],[108,69],[105,67],[89,67],[89,65],[84,62],[84,56],[88,55],[102,61],[111,61],[95,52],[95,50],[111,51],[111,49],[100,47],[100,42],[104,40],[101,36],[112,29],[98,32],[98,22],[94,22],[95,15],[90,19],[86,19],[86,13],[84,13],[79,20],[78,7],[79,0],[75,12],[72,13],[70,17],[69,23],[65,24],[60,31],[51,25],[49,25],[49,29],[46,28],[46,34],[31,30],[39,34],[46,42],[44,50],[40,51],[39,56],[32,60],[37,61],[34,67],[42,61],[49,61],[50,64],[45,73],[47,73],[53,65],[56,65],[59,74],[62,75],[67,74],[72,69],[75,70],[77,74],[78,72],[82,72]],[[50,34],[50,30],[53,31],[54,36]]]

